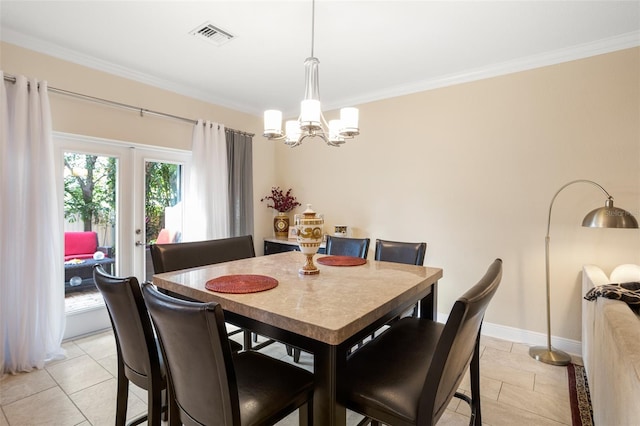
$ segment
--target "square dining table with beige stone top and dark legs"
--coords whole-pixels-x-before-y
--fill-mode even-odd
[[[319,270],[315,275],[299,273],[305,262],[302,253],[284,252],[156,274],[153,284],[193,300],[219,303],[226,322],[311,353],[314,424],[344,426],[346,408],[338,394],[352,349],[418,302],[419,315],[435,320],[443,272],[376,260],[322,264],[323,257],[314,258]],[[271,288],[254,287],[249,293],[206,288],[207,282],[243,276],[262,277]]]

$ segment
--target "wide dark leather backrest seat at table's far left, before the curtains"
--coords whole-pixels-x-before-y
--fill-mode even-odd
[[[186,243],[153,244],[149,249],[156,274],[256,256],[251,235]],[[181,299],[187,299],[184,296],[170,294]],[[229,335],[242,331],[244,330],[237,329],[230,332]],[[269,339],[260,345],[252,345],[250,333],[244,332],[244,347],[247,350],[261,349],[273,343],[273,340]]]

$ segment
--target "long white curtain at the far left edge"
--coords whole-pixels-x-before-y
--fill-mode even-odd
[[[62,357],[62,231],[47,83],[0,86],[0,361],[2,374]]]

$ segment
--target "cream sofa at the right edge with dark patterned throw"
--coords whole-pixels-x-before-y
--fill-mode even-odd
[[[640,265],[611,276],[595,265],[582,271],[582,296],[594,286],[640,281]],[[582,359],[597,426],[640,424],[640,316],[619,300],[582,300]]]

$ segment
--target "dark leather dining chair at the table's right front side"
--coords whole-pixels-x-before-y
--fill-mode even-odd
[[[470,405],[469,424],[480,426],[480,330],[501,278],[496,259],[454,303],[446,324],[402,318],[356,351],[338,391],[342,404],[372,425],[434,425],[455,396]],[[457,392],[467,369],[471,398]]]

